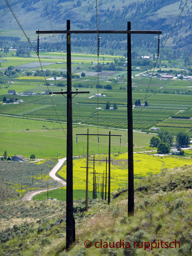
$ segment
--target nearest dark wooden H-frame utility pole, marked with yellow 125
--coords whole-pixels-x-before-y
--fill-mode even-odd
[[[67,30],[36,30],[36,34],[67,34],[67,199],[66,199],[66,249],[75,242],[75,220],[73,218],[73,151],[72,151],[72,97],[71,94],[71,34],[97,34],[97,30],[70,30],[70,20],[67,20]],[[100,34],[127,34],[127,94],[132,95],[131,88],[131,34],[162,34],[162,31],[131,30],[131,22],[128,22],[127,30],[99,30]],[[130,90],[131,89],[131,90]],[[59,92],[60,93],[60,92]],[[79,93],[79,92],[78,92]],[[85,92],[80,92],[85,93]],[[88,93],[88,92],[86,92]],[[51,92],[50,94],[57,94]],[[62,93],[63,94],[63,93]],[[127,99],[128,115],[128,213],[134,212],[134,186],[133,186],[133,149],[132,149],[132,97]],[[131,101],[130,101],[131,100]],[[129,108],[129,110],[128,110]],[[131,118],[131,119],[130,119]],[[70,136],[68,136],[68,132]],[[70,139],[69,139],[70,138]],[[69,148],[69,151],[68,151]],[[70,152],[70,153],[69,153]],[[70,155],[70,156],[69,156]],[[109,164],[110,165],[110,164]],[[130,169],[130,170],[129,170]],[[110,196],[110,195],[108,195]]]

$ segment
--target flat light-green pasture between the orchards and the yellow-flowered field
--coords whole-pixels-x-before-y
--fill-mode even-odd
[[[48,158],[56,157],[57,152],[60,153],[60,157],[66,156],[66,124],[62,124],[64,128],[64,130],[62,130],[60,124],[55,122],[7,116],[0,116],[0,120],[2,123],[2,131],[0,132],[1,154],[3,154],[4,150],[7,150],[9,156],[20,154],[25,157],[30,157],[31,154],[35,154],[37,158]],[[46,129],[43,125],[49,129]],[[86,154],[86,136],[78,136],[78,143],[76,144],[76,133],[87,133],[87,128],[89,128],[89,133],[97,134],[98,132],[97,127],[79,127],[79,125],[74,125],[74,156]],[[29,131],[26,129],[29,129]],[[99,133],[109,134],[109,131],[111,131],[111,134],[122,135],[121,147],[119,137],[111,138],[111,152],[127,152],[127,132],[99,128]],[[152,134],[136,132],[133,134],[134,145],[137,147],[139,143],[139,150],[145,150],[145,147],[149,145]],[[8,147],[7,145],[13,145],[13,141],[14,146]],[[138,148],[136,150],[138,150]],[[90,136],[89,152],[90,154],[107,153],[108,136],[100,136],[99,146],[97,136]]]

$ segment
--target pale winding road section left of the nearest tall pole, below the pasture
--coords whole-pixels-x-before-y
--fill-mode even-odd
[[[66,186],[66,182],[64,180],[61,180],[59,179],[58,177],[55,176],[55,173],[59,170],[59,168],[61,167],[61,165],[65,162],[67,158],[62,158],[62,159],[59,159],[59,163],[57,165],[55,165],[55,167],[52,169],[52,171],[49,173],[49,176],[53,178],[53,180],[56,180],[57,182],[60,183],[60,187],[57,187],[57,188],[61,188],[61,187],[64,187]],[[50,190],[54,190],[54,189],[57,189],[57,188],[49,188],[48,191]],[[42,190],[36,190],[36,191],[32,191],[32,192],[29,192],[27,195],[25,195],[22,200],[32,200],[33,196],[36,196],[42,192],[46,192],[47,189],[42,189]]]

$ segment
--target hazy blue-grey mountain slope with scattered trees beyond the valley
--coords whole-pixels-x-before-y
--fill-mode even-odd
[[[65,29],[66,20],[71,20],[71,29],[96,29],[96,6],[95,1],[87,0],[46,0],[47,12],[49,14],[54,29]],[[10,5],[24,30],[52,29],[44,2],[33,0],[10,1]],[[157,1],[157,0],[132,0],[98,1],[98,28],[99,29],[126,29],[127,21],[132,22],[132,29],[163,30],[163,40],[167,38],[175,21],[177,20],[184,2],[178,0]],[[0,23],[3,29],[20,30],[9,8],[2,2],[0,4]],[[190,16],[192,13],[192,3],[186,4],[184,11],[175,27],[168,46],[174,48],[186,47],[190,45],[185,38],[191,33]],[[187,32],[186,32],[187,29]],[[181,36],[183,46],[178,45]],[[74,35],[78,46],[85,46],[87,41],[92,41],[92,35]],[[63,39],[63,36],[62,36]],[[61,38],[60,38],[61,40]],[[108,42],[115,42],[114,47],[125,48],[122,41],[126,40],[125,35],[103,35],[102,46]],[[156,47],[156,36],[154,35],[134,35],[132,36],[132,46]]]

